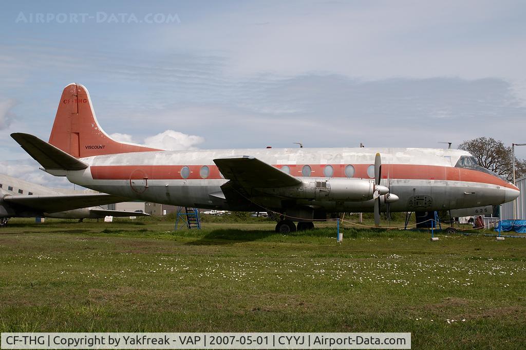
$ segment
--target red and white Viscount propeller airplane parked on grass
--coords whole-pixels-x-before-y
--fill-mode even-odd
[[[430,211],[498,205],[519,189],[450,149],[237,149],[164,151],[117,142],[99,126],[89,93],[69,84],[49,143],[12,134],[56,176],[157,203],[281,214],[276,230],[313,227],[330,212]],[[383,160],[383,164],[382,164]]]

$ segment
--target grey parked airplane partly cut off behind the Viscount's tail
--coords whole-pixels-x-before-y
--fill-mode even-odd
[[[122,210],[106,210],[96,205],[116,203],[127,198],[107,194],[65,194],[60,190],[0,174],[0,227],[12,217],[97,219],[105,216],[148,216]],[[86,208],[86,206],[90,206]]]

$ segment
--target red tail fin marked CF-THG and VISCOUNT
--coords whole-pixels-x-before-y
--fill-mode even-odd
[[[109,137],[97,122],[88,90],[75,83],[69,84],[62,92],[49,143],[77,158],[159,151],[146,146],[117,142]]]

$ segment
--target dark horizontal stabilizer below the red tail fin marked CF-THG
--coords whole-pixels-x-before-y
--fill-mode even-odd
[[[42,141],[36,136],[24,133],[13,133],[11,137],[22,146],[35,161],[46,169],[82,170],[88,167],[72,155]]]

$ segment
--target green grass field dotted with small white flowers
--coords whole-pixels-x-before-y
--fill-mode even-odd
[[[274,224],[12,220],[2,332],[411,332],[413,348],[526,348],[526,239]]]

